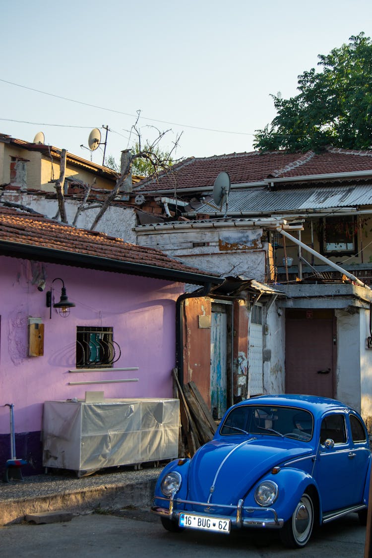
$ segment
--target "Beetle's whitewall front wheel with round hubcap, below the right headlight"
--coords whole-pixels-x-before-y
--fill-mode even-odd
[[[294,549],[305,546],[314,525],[314,507],[309,494],[302,494],[292,517],[284,523],[280,535],[284,545]]]

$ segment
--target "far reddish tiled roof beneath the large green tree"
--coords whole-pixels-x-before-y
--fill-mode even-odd
[[[325,152],[287,151],[231,153],[206,158],[189,158],[173,166],[158,180],[142,180],[136,191],[174,191],[213,187],[218,174],[226,171],[231,184],[249,184],[269,178],[321,175],[371,170],[372,152],[328,147]]]

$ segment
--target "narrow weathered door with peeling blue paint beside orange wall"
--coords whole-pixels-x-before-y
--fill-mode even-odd
[[[211,316],[211,411],[215,419],[221,419],[227,408],[227,335],[226,310],[212,306]]]

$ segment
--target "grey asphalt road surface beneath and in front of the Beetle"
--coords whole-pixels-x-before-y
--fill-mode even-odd
[[[365,527],[356,514],[318,528],[305,549],[288,550],[277,533],[265,531],[259,540],[244,531],[233,535],[169,533],[148,511],[126,510],[116,515],[77,516],[65,523],[22,523],[0,527],[0,555],[38,558],[216,556],[269,558],[363,558]]]

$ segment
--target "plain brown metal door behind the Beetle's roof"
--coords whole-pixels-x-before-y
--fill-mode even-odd
[[[286,392],[334,397],[333,310],[286,311]]]

